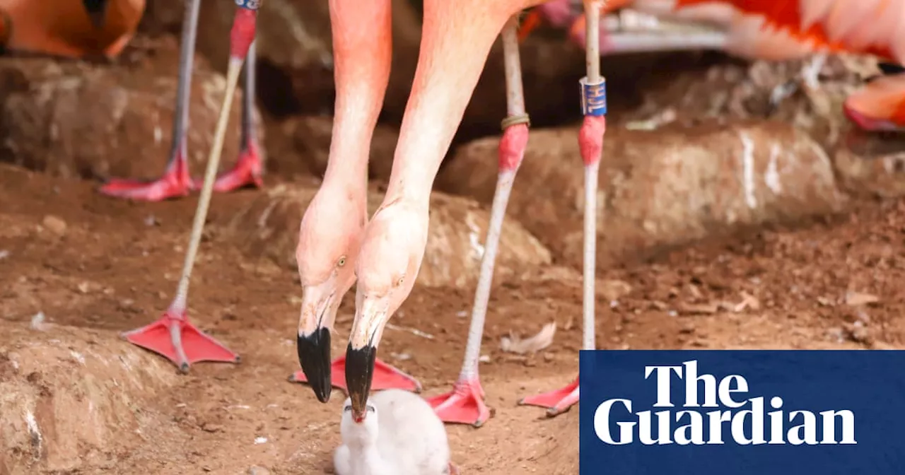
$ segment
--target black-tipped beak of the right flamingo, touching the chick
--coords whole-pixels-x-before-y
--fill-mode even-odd
[[[371,391],[377,346],[389,320],[389,299],[358,294],[355,322],[346,348],[346,389],[352,400],[352,415],[363,419],[367,411],[367,394]]]

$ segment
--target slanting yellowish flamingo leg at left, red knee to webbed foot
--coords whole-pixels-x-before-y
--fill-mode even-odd
[[[252,4],[254,5],[254,4]],[[217,166],[220,163],[220,155],[223,152],[224,136],[229,121],[229,110],[233,103],[236,83],[242,71],[242,64],[248,52],[249,45],[254,38],[257,12],[255,10],[240,7],[236,11],[233,20],[231,39],[231,55],[229,70],[226,74],[226,92],[223,106],[220,109],[220,117],[217,119],[217,128],[214,131],[214,144],[208,157],[205,183],[201,188],[201,196],[198,199],[198,208],[195,211],[195,220],[192,223],[192,231],[188,238],[186,249],[186,261],[183,264],[182,274],[176,288],[176,298],[170,304],[163,317],[147,327],[138,328],[122,334],[122,337],[139,347],[147,348],[162,356],[166,356],[179,370],[187,372],[190,365],[199,361],[217,361],[225,363],[238,363],[239,356],[224,347],[212,337],[208,337],[186,318],[186,302],[188,298],[188,284],[192,276],[192,268],[195,265],[195,256],[198,245],[201,243],[201,234],[205,227],[207,209],[211,201],[211,193],[214,188],[214,177]]]

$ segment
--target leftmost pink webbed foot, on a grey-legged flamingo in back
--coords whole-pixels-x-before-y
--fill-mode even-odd
[[[163,201],[187,196],[194,189],[185,157],[177,156],[164,176],[154,181],[111,178],[98,190],[103,195],[140,201]]]

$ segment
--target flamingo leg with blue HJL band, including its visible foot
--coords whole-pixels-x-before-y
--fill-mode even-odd
[[[585,349],[595,349],[595,271],[597,242],[597,176],[603,153],[606,130],[606,81],[600,76],[598,19],[603,0],[586,0],[587,13],[587,76],[581,81],[584,123],[578,132],[578,146],[585,163],[585,249],[582,292]],[[578,402],[578,379],[565,388],[545,394],[529,396],[519,404],[537,405],[548,409],[548,416],[564,413]]]

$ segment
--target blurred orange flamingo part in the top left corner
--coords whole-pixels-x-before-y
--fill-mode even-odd
[[[0,0],[3,46],[17,52],[114,58],[135,35],[145,0]]]

